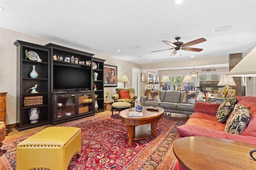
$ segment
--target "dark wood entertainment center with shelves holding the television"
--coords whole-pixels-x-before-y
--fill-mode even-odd
[[[104,59],[52,43],[38,45],[17,40],[14,44],[17,46],[17,130],[56,125],[104,111]],[[42,61],[28,58],[27,51],[38,54]],[[63,60],[74,56],[73,59],[83,63],[61,61],[53,55],[63,57]],[[92,63],[97,67],[92,67]],[[36,78],[30,77],[33,65],[38,73]],[[97,80],[93,79],[95,71]],[[26,92],[35,84],[38,93]],[[98,95],[96,99],[94,94]],[[38,97],[42,97],[42,103],[24,104],[25,98]],[[95,101],[98,109],[94,108]],[[30,123],[28,112],[32,108],[40,109],[36,123]]]

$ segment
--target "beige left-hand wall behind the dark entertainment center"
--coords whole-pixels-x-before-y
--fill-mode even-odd
[[[47,43],[55,43],[58,45],[63,45],[65,47],[70,47],[85,51],[84,49],[72,47],[70,45],[56,43],[49,40],[44,40],[41,38],[36,38],[20,32],[14,32],[12,30],[7,30],[5,28],[0,28],[0,91],[7,93],[7,125],[16,123],[16,45],[13,43],[16,40],[21,40],[24,42],[36,43],[39,45],[45,45]],[[89,53],[94,53],[93,51],[86,51]],[[105,64],[116,65],[117,67],[117,80],[118,87],[124,87],[119,79],[125,73],[128,79],[132,79],[132,67],[139,68],[140,65],[130,63],[127,61],[114,59],[102,54],[94,53],[94,57],[106,59]],[[126,87],[132,87],[132,84],[126,84]],[[106,87],[105,92],[110,92],[110,97],[115,93],[116,87]]]

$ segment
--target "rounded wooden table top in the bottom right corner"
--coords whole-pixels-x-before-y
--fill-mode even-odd
[[[255,169],[256,161],[250,156],[254,149],[256,145],[253,144],[200,136],[180,138],[173,144],[180,170]]]

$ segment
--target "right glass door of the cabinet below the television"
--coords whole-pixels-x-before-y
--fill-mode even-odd
[[[78,94],[78,114],[92,112],[92,102],[92,93]]]

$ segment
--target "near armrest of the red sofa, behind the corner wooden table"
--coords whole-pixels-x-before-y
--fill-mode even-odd
[[[256,137],[254,136],[242,136],[239,134],[230,134],[228,132],[214,130],[211,128],[194,126],[194,125],[181,125],[177,127],[179,137],[187,136],[206,136],[211,138],[222,138],[228,140],[235,140],[238,142],[244,142],[249,144],[256,144]]]

